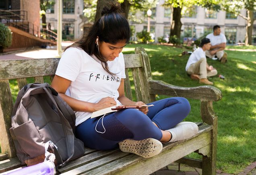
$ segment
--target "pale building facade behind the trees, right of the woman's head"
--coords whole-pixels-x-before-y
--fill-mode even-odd
[[[150,20],[150,31],[155,42],[158,42],[158,37],[168,38],[170,33],[171,8],[163,7],[163,3],[164,0],[159,0],[157,7],[151,9],[153,13]],[[213,26],[219,25],[221,26],[221,32],[227,37],[227,44],[244,42],[246,35],[246,20],[244,18],[225,11],[207,10],[200,6],[194,6],[192,10],[194,13],[184,14],[181,18],[181,38],[199,38],[204,33],[212,32]],[[143,16],[144,14],[145,12],[140,12],[137,15]],[[246,16],[246,10],[242,10],[241,14]],[[254,12],[254,18],[256,18],[256,12]],[[131,28],[134,28],[133,38],[136,40],[137,32],[147,30],[147,17],[140,24],[130,22],[130,25]],[[252,42],[256,44],[256,20],[254,21],[252,35]]]

